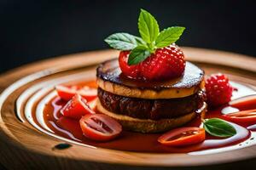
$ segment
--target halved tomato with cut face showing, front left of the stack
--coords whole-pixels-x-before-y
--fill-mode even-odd
[[[103,114],[83,116],[80,119],[80,127],[86,138],[96,141],[114,139],[122,132],[119,122]]]

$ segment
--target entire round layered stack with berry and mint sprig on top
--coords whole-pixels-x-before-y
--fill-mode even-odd
[[[121,52],[97,68],[97,110],[136,132],[182,126],[206,111],[204,71],[186,62],[174,44],[184,27],[159,31],[154,17],[142,10],[138,28],[141,37],[116,33],[105,40]]]

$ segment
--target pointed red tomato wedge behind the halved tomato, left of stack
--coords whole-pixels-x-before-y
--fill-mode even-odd
[[[75,94],[61,109],[61,114],[73,119],[80,119],[84,115],[95,114],[95,111],[90,109],[86,99],[79,94]]]

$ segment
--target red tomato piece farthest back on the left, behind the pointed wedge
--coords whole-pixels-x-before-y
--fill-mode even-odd
[[[55,89],[59,94],[59,96],[61,97],[61,99],[64,99],[67,101],[72,99],[75,94],[80,94],[87,101],[95,99],[97,96],[96,88],[89,88],[87,86],[84,86],[82,88],[79,88],[77,86],[72,86],[68,88],[67,86],[58,85],[55,87]]]

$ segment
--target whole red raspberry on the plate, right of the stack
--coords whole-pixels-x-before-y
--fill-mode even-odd
[[[221,73],[212,74],[206,81],[207,104],[216,107],[230,102],[233,89],[228,77]]]

